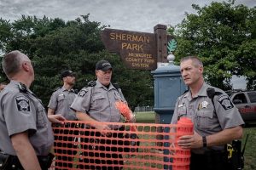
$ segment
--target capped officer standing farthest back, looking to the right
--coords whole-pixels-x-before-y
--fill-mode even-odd
[[[49,99],[49,105],[48,105],[48,116],[50,115],[61,115],[64,116],[66,118],[66,120],[68,121],[76,121],[77,117],[75,114],[75,111],[70,109],[70,105],[73,103],[73,99],[75,99],[76,95],[75,94],[75,90],[73,89],[73,86],[75,84],[75,73],[73,71],[70,70],[65,70],[65,71],[61,71],[61,80],[63,82],[63,86],[61,88],[58,88],[57,90],[55,90],[55,92],[51,95],[50,99]],[[65,123],[65,127],[76,127],[75,123],[69,123],[66,122]],[[55,129],[55,140],[63,140],[63,141],[73,141],[74,138],[73,137],[68,137],[68,136],[64,136],[64,137],[60,137],[59,138],[59,133],[60,130],[59,129]],[[78,131],[64,131],[65,134],[78,134]],[[68,156],[57,156],[57,160],[56,161],[56,166],[57,167],[73,167],[72,163],[63,163],[63,161],[73,161],[73,156],[76,154],[75,150],[70,150],[72,148],[76,148],[77,145],[75,145],[74,143],[59,143],[59,142],[55,142],[55,146],[58,147],[67,147],[68,149],[66,150],[55,150],[55,153],[58,154],[67,154]]]

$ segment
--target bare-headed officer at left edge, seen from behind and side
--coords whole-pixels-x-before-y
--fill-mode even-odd
[[[11,159],[0,166],[47,169],[54,138],[41,100],[29,89],[34,80],[31,60],[12,51],[3,57],[2,65],[10,82],[0,93],[0,159]],[[54,122],[56,118],[50,116]]]

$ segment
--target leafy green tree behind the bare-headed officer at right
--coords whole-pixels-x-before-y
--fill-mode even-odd
[[[197,14],[186,14],[174,31],[177,58],[201,57],[207,82],[224,90],[231,88],[232,75],[246,76],[249,83],[255,80],[255,8],[234,3],[212,2],[202,8],[193,4]],[[255,88],[249,83],[247,88]]]

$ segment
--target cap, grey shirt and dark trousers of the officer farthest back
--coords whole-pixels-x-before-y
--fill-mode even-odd
[[[63,77],[74,77],[75,73],[73,71],[63,71],[61,72],[61,79]],[[49,99],[49,105],[48,107],[52,110],[54,110],[55,115],[61,115],[64,116],[68,121],[76,121],[77,117],[75,114],[75,111],[73,111],[70,106],[73,103],[73,99],[77,94],[75,94],[75,91],[73,88],[70,90],[67,90],[64,86],[61,88],[57,88],[55,92],[51,95]],[[53,126],[60,126],[58,124],[54,124]],[[70,123],[66,122],[64,125],[65,130],[54,128],[55,133],[55,141],[62,140],[62,142],[55,142],[55,147],[61,147],[62,149],[55,149],[55,153],[57,153],[58,156],[56,156],[56,167],[55,169],[63,169],[63,168],[72,168],[73,163],[67,163],[67,161],[72,162],[73,156],[77,154],[77,151],[75,150],[78,146],[75,144],[75,139],[71,134],[78,135],[78,130],[67,130],[70,127],[77,128],[76,123]],[[67,134],[65,136],[61,136],[60,133]],[[69,142],[66,142],[69,141]],[[68,156],[61,156],[61,154],[65,154]]]

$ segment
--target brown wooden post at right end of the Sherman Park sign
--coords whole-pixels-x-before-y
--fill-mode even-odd
[[[168,63],[167,60],[167,26],[154,26],[154,34],[156,40],[156,56],[157,63]]]

